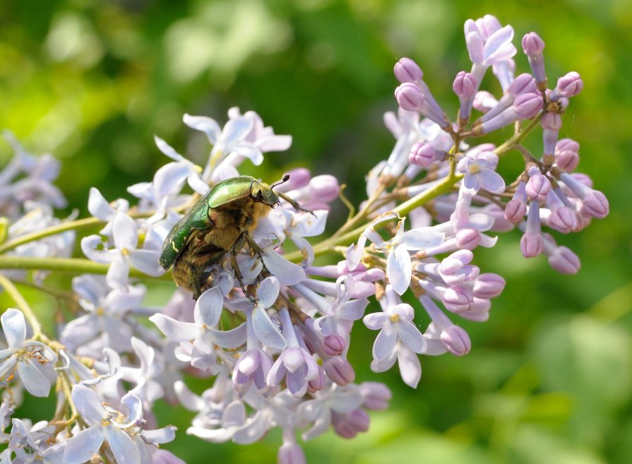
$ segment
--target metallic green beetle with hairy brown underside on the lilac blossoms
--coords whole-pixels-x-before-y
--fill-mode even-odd
[[[290,179],[285,175],[278,184]],[[265,218],[271,208],[279,204],[279,196],[297,210],[304,210],[295,201],[254,177],[239,176],[219,182],[208,194],[196,201],[189,211],[173,227],[162,245],[160,265],[169,269],[174,266],[173,278],[177,285],[193,292],[198,299],[210,283],[209,266],[230,253],[230,265],[244,290],[244,295],[254,300],[242,282],[237,266],[237,253],[246,244],[263,264],[263,251],[251,237],[258,220]]]

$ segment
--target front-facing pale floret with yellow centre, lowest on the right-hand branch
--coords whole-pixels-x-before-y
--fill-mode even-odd
[[[408,350],[423,353],[426,340],[413,319],[415,310],[393,291],[391,285],[386,286],[385,296],[380,300],[382,312],[364,316],[364,325],[374,331],[380,331],[373,345],[374,361],[379,362],[390,355],[396,343],[401,341]]]

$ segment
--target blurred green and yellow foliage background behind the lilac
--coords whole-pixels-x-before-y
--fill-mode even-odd
[[[463,22],[493,13],[546,42],[549,81],[575,70],[583,93],[562,137],[581,144],[581,172],[607,194],[611,214],[580,234],[556,237],[582,258],[559,275],[525,260],[517,233],[477,250],[483,271],[507,279],[484,324],[465,321],[472,352],[422,358],[417,390],[396,370],[369,371],[375,333],[354,332],[359,381],[393,389],[390,410],[368,434],[327,434],[305,446],[309,463],[626,464],[632,462],[632,3],[629,0],[15,0],[0,5],[0,127],[33,153],[51,152],[57,184],[85,215],[88,188],[130,198],[167,162],[153,134],[201,161],[208,145],[183,113],[226,120],[254,109],[294,137],[261,169],[330,172],[364,195],[361,173],[386,157],[393,138],[382,114],[396,108],[395,60],[410,56],[451,114],[455,73],[469,69]],[[527,61],[520,52],[518,71]],[[489,78],[488,90],[498,93]],[[501,134],[508,135],[508,131]],[[541,150],[539,135],[527,145]],[[1,165],[10,156],[0,145]],[[510,162],[511,164],[511,162]],[[338,208],[332,225],[345,217]],[[160,289],[159,289],[160,290]],[[424,321],[426,323],[426,321]],[[186,436],[191,414],[159,405],[179,438],[165,448],[189,464],[273,463],[280,434],[261,444],[213,445]]]

